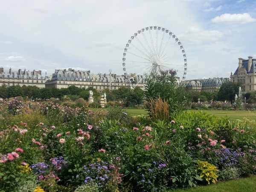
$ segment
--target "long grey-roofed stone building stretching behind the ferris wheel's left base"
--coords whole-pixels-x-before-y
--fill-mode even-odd
[[[138,83],[137,86],[143,88],[143,83],[145,82],[143,76],[131,74],[128,78],[131,84]],[[55,70],[55,73],[46,81],[46,87],[56,87],[57,89],[68,88],[72,85],[86,89],[93,87],[97,90],[110,89],[110,87],[112,90],[116,90],[123,86],[130,86],[124,75],[111,74],[110,76],[110,74],[102,73],[94,75],[90,71],[76,71],[71,68],[68,70]]]

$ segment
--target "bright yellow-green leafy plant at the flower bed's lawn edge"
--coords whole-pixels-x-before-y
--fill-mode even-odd
[[[216,166],[211,165],[207,161],[198,160],[198,162],[196,163],[197,172],[203,180],[207,180],[208,184],[210,184],[210,181],[212,181],[212,183],[215,183],[215,181],[217,181],[218,169]]]

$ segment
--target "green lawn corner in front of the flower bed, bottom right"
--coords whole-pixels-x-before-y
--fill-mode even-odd
[[[219,182],[209,186],[180,189],[175,192],[256,192],[256,176]]]

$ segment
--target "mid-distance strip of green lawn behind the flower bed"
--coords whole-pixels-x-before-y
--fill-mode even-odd
[[[92,109],[93,111],[96,111],[97,109]],[[106,110],[109,110],[109,108],[106,108]],[[128,112],[131,116],[137,116],[137,115],[146,115],[147,111],[144,109],[124,109],[124,111]],[[186,110],[186,112],[198,112],[199,110]],[[229,116],[230,119],[233,121],[236,119],[242,120],[244,117],[247,119],[254,119],[256,120],[256,111],[221,111],[221,110],[205,110],[207,114],[215,115],[215,116]],[[185,112],[185,111],[184,111]]]

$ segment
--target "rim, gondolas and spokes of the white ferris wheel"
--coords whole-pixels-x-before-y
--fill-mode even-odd
[[[125,47],[125,51],[123,52],[123,71],[124,71],[124,76],[126,77],[126,80],[128,80],[128,82],[130,83],[130,84],[132,84],[131,83],[131,81],[130,81],[130,78],[129,78],[129,76],[128,76],[128,73],[127,73],[127,69],[126,69],[126,64],[125,64],[125,56],[126,56],[126,52],[128,52],[128,47],[129,47],[129,45],[132,45],[132,46],[134,46],[132,43],[131,43],[131,41],[132,40],[134,40],[134,38],[136,38],[137,39],[137,41],[139,41],[140,42],[140,40],[137,38],[137,35],[138,35],[138,33],[140,34],[140,33],[142,33],[142,35],[143,35],[143,38],[144,38],[144,40],[145,40],[145,42],[146,42],[146,44],[147,44],[147,46],[148,46],[148,50],[147,49],[145,49],[145,47],[144,47],[144,45],[140,42],[140,44],[141,44],[141,46],[144,48],[144,50],[146,51],[146,53],[148,53],[148,55],[151,55],[151,57],[148,57],[148,55],[146,55],[145,53],[143,53],[143,52],[141,52],[140,51],[140,49],[138,49],[137,47],[135,47],[139,52],[141,52],[146,58],[143,58],[143,57],[141,57],[141,56],[139,56],[139,55],[135,55],[135,54],[133,54],[133,53],[131,53],[131,52],[128,52],[128,53],[130,53],[130,54],[132,54],[132,55],[135,55],[135,56],[137,56],[137,57],[140,57],[140,58],[143,58],[143,59],[145,59],[146,61],[148,61],[148,62],[141,62],[141,61],[132,61],[132,62],[140,62],[140,63],[149,63],[149,64],[152,64],[153,65],[153,67],[151,66],[151,68],[157,68],[156,70],[160,70],[160,65],[156,62],[156,63],[152,63],[152,60],[154,60],[155,61],[155,59],[156,58],[152,58],[152,55],[156,55],[156,53],[161,53],[161,47],[162,47],[162,44],[163,44],[163,37],[162,37],[162,39],[161,39],[161,44],[160,44],[160,49],[158,50],[158,47],[157,47],[157,52],[156,52],[156,50],[154,49],[155,47],[154,47],[154,42],[152,41],[152,36],[151,36],[151,30],[154,28],[154,30],[156,30],[156,31],[161,31],[161,32],[163,32],[163,37],[165,36],[165,34],[166,33],[169,33],[169,39],[168,39],[168,41],[166,42],[166,45],[165,45],[165,47],[164,47],[164,49],[163,49],[163,52],[164,52],[164,50],[165,50],[165,48],[166,48],[166,46],[168,45],[168,43],[169,43],[169,40],[171,39],[171,38],[175,38],[175,43],[174,44],[176,44],[177,42],[178,42],[178,45],[180,45],[180,49],[178,49],[176,52],[178,52],[178,51],[180,51],[180,50],[182,50],[182,53],[183,53],[183,62],[184,62],[184,64],[183,65],[180,65],[180,66],[183,66],[184,67],[184,72],[183,73],[181,73],[182,74],[182,78],[181,79],[179,79],[179,81],[180,81],[180,84],[182,84],[182,83],[184,83],[184,81],[185,81],[185,78],[186,78],[186,71],[187,71],[187,58],[186,58],[186,51],[185,51],[185,49],[184,49],[184,47],[183,47],[183,44],[181,43],[181,41],[180,41],[180,39],[172,32],[172,31],[170,31],[169,29],[166,29],[166,28],[163,28],[163,27],[161,27],[161,26],[148,26],[148,27],[145,27],[145,28],[142,28],[142,29],[140,29],[140,30],[138,30],[136,33],[134,33],[134,35],[133,36],[131,36],[131,38],[128,40],[128,43],[126,44],[126,47]],[[148,41],[147,41],[147,39],[145,38],[145,35],[144,35],[144,31],[149,31],[149,34],[150,34],[150,38],[151,38],[151,45],[152,45],[152,47],[150,47],[150,45],[148,44]],[[153,30],[153,31],[154,31]],[[167,32],[166,32],[167,31]],[[156,32],[157,33],[157,32]],[[158,36],[157,36],[157,43],[158,43]],[[173,45],[174,45],[173,44]],[[152,50],[152,49],[153,50]],[[172,48],[172,47],[171,47]],[[170,49],[171,49],[170,48]],[[153,53],[154,52],[154,53]],[[163,52],[162,52],[162,54],[163,54]],[[169,52],[169,50],[167,51],[167,52]],[[163,57],[167,54],[167,52],[165,52],[165,54],[163,55]],[[174,52],[175,53],[175,52]],[[163,58],[162,57],[162,58]],[[176,60],[177,60],[177,58],[176,58]],[[151,61],[151,62],[150,62]],[[165,63],[163,63],[163,64],[165,64]],[[169,64],[169,65],[175,65],[175,64]],[[142,67],[144,67],[144,66],[142,66]],[[162,66],[163,67],[163,66]],[[140,67],[137,67],[137,68],[140,68]],[[147,68],[148,69],[148,68]],[[129,70],[131,70],[131,69],[129,69]],[[144,70],[145,71],[145,70]],[[142,72],[140,72],[140,73],[143,73],[144,71],[142,71]],[[135,76],[137,76],[137,75],[140,75],[140,73],[136,73],[132,78],[134,78]],[[141,81],[141,80],[140,80]],[[137,84],[139,84],[139,82],[140,81],[137,81],[137,83],[135,84],[135,87],[137,86]]]

